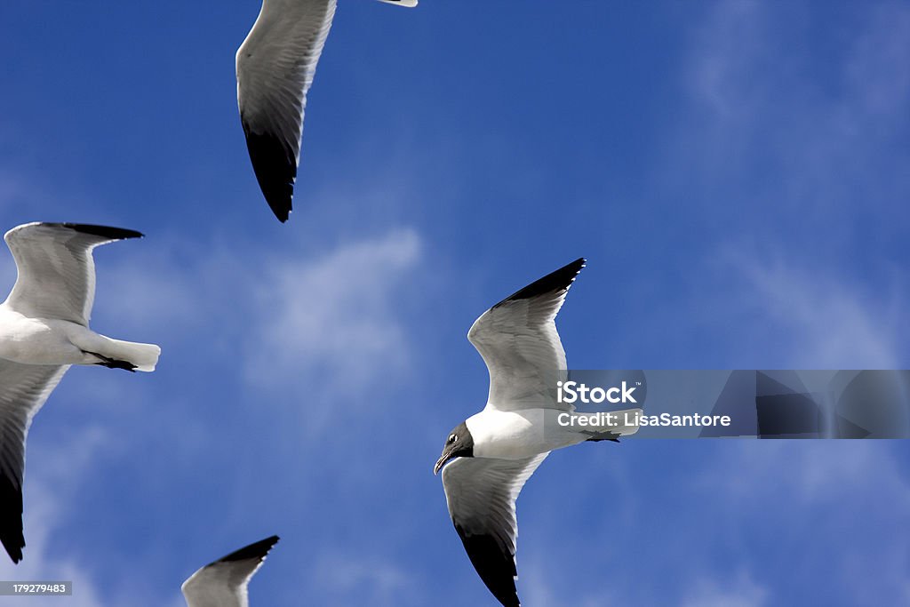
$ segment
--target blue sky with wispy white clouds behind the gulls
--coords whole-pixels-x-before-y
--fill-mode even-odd
[[[0,226],[135,228],[35,418],[29,605],[175,606],[278,533],[254,605],[494,604],[431,472],[487,376],[470,323],[584,256],[575,369],[910,365],[910,4],[341,0],[295,211],[261,198],[234,54],[255,0],[0,5]],[[15,267],[0,257],[0,278]],[[528,605],[910,602],[910,448],[663,441],[551,455]]]

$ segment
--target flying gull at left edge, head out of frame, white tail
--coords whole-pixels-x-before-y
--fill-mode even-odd
[[[19,275],[0,304],[0,542],[22,560],[25,436],[70,365],[152,371],[161,349],[88,328],[95,300],[92,249],[140,238],[131,229],[29,223],[6,232]]]

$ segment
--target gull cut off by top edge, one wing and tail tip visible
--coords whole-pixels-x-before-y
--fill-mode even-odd
[[[416,6],[417,0],[380,0]],[[336,0],[263,0],[237,51],[237,97],[249,159],[262,194],[284,223],[300,162],[303,110]]]

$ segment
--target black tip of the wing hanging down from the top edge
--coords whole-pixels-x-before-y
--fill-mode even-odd
[[[294,150],[278,137],[250,131],[246,123],[243,130],[247,135],[247,150],[259,182],[259,189],[266,197],[272,213],[278,221],[284,223],[290,216],[294,182],[297,180],[297,158]]]

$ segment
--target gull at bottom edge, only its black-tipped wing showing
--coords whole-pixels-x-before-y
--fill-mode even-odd
[[[180,590],[189,607],[249,607],[247,584],[278,542],[273,535],[231,552],[193,573]]]

